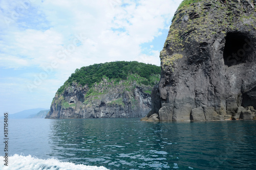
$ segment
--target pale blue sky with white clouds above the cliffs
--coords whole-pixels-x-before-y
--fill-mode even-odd
[[[0,115],[49,109],[76,68],[160,65],[182,0],[0,0]]]

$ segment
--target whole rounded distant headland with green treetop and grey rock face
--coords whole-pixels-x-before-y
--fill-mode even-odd
[[[56,92],[46,118],[143,117],[160,67],[111,62],[77,69]]]

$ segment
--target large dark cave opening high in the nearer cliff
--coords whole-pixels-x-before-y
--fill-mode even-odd
[[[252,52],[250,39],[243,33],[227,33],[223,52],[224,64],[228,67],[246,62]]]

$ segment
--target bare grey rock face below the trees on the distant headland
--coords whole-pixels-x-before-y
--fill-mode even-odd
[[[151,110],[151,89],[135,81],[102,79],[90,89],[73,82],[56,93],[46,118],[143,117]]]

